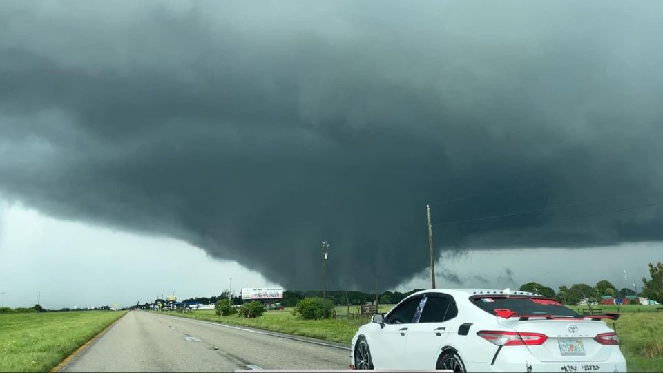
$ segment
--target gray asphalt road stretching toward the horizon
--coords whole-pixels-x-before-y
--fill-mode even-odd
[[[349,350],[242,329],[132,311],[64,372],[232,372],[349,366]]]

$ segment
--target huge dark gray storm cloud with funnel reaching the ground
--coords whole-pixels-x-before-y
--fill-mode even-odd
[[[555,207],[435,227],[438,255],[661,240],[657,207],[608,213],[663,198],[661,10],[3,1],[0,191],[296,288],[323,240],[340,283],[425,268],[426,204]]]

